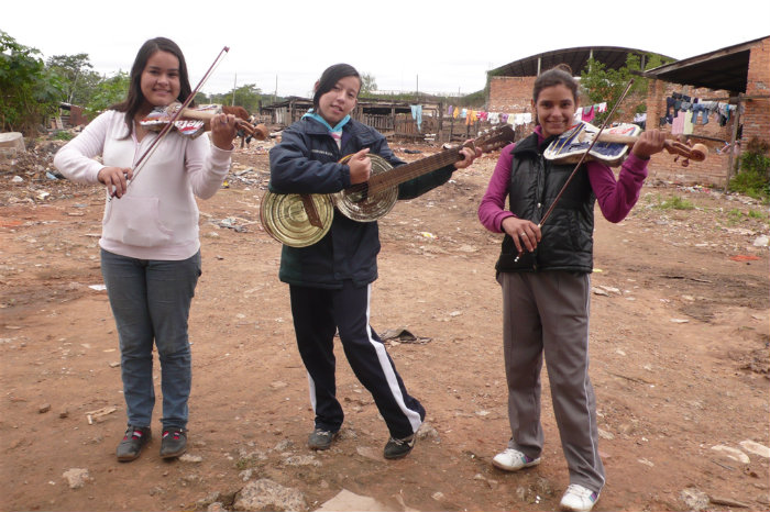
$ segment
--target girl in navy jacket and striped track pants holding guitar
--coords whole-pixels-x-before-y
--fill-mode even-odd
[[[289,126],[270,153],[270,189],[277,193],[333,193],[369,180],[369,154],[399,166],[376,130],[350,116],[361,77],[350,65],[337,64],[316,82],[314,109]],[[480,154],[481,152],[479,152]],[[398,199],[416,198],[471,165],[479,156],[463,148],[464,158],[402,183]],[[345,164],[339,160],[352,155]],[[376,222],[358,222],[339,211],[329,232],[314,245],[284,245],[279,278],[289,285],[297,346],[308,371],[310,401],[316,413],[308,438],[311,449],[328,449],[342,426],[336,397],[334,334],[361,383],[372,393],[391,437],[385,458],[411,452],[415,433],[425,419],[422,404],[409,396],[377,333],[369,324],[372,282],[377,278],[380,235]]]

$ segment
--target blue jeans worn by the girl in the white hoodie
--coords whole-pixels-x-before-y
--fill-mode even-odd
[[[101,275],[120,338],[129,424],[150,426],[155,405],[153,342],[161,360],[164,430],[187,427],[193,382],[187,320],[200,276],[200,252],[178,261],[101,251]]]

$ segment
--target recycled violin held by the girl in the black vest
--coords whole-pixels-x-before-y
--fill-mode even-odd
[[[590,123],[579,123],[549,144],[543,157],[560,164],[574,164],[587,152],[585,160],[598,160],[614,167],[626,158],[628,148],[639,140],[641,129],[636,124],[623,123],[598,132],[600,130]],[[592,142],[594,144],[591,146]],[[691,145],[678,140],[667,140],[663,148],[675,155],[674,162],[683,157],[682,167],[688,167],[691,160],[704,162],[708,156],[708,147],[704,144]]]

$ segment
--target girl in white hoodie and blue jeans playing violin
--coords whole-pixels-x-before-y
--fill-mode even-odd
[[[107,187],[99,246],[118,327],[128,414],[117,448],[121,461],[139,457],[151,438],[153,344],[162,370],[161,457],[178,457],[187,446],[187,320],[201,272],[195,197],[212,197],[227,177],[235,119],[215,116],[210,138],[169,132],[135,176],[134,167],[158,136],[139,121],[155,107],[184,102],[190,93],[187,65],[176,43],[150,40],[136,54],[125,101],[96,118],[54,158],[67,178]]]

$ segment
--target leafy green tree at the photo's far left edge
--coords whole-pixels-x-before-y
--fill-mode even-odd
[[[37,55],[0,31],[0,131],[32,134],[58,108],[61,82]]]

